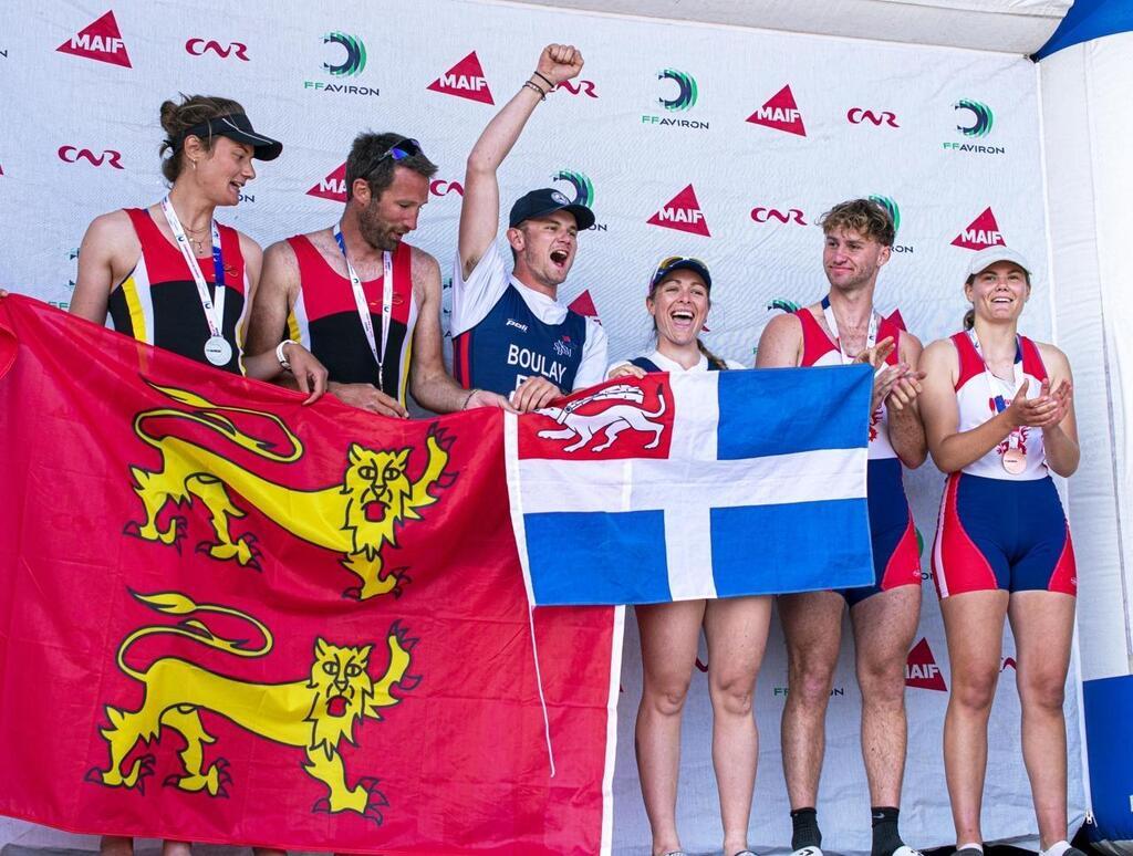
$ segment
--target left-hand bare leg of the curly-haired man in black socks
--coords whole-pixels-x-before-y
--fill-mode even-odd
[[[792,811],[811,807],[818,799],[826,752],[826,705],[842,641],[844,608],[845,599],[832,591],[778,598],[787,656],[787,695],[780,736]]]

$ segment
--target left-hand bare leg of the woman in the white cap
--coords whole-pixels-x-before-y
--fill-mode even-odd
[[[982,842],[980,808],[988,760],[988,717],[999,679],[1007,592],[970,591],[940,601],[952,693],[944,718],[944,770],[956,842]]]

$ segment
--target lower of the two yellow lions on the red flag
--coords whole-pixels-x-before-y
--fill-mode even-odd
[[[340,648],[316,639],[309,678],[256,684],[218,675],[178,657],[161,657],[145,670],[130,667],[126,662],[130,645],[156,634],[191,639],[245,658],[263,657],[273,645],[271,631],[238,609],[198,605],[179,592],[148,596],[134,592],[134,597],[165,615],[213,613],[247,620],[263,642],[258,648],[245,648],[246,641],[218,636],[199,618],[185,618],[178,625],[150,625],[130,633],[118,647],[118,667],[142,683],[145,701],[136,711],[107,705],[109,726],[99,733],[110,748],[110,769],[94,768],[86,774],[88,781],[144,791],[145,779],[153,772],[154,756],[144,754],[128,764],[126,761],[139,742],[160,738],[164,727],[180,734],[187,744],[178,753],[182,773],[169,776],[164,784],[190,793],[227,796],[227,785],[231,782],[228,761],[223,757],[211,764],[204,761],[205,745],[216,742],[201,721],[201,711],[207,710],[252,734],[301,748],[306,753],[303,771],[327,788],[327,795],[315,802],[313,811],[357,812],[375,823],[382,822],[381,808],[389,802],[377,789],[377,779],[360,778],[352,787],[347,785],[339,744],[343,739],[353,744],[360,720],[381,721],[378,709],[401,701],[391,693],[394,687],[408,692],[420,682],[419,676],[407,675],[417,640],[409,639],[399,622],[390,627],[386,639],[390,665],[377,680],[367,671],[373,645]]]

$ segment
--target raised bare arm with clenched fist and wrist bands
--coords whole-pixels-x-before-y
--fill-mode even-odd
[[[495,240],[500,228],[500,182],[496,171],[511,152],[536,105],[563,80],[582,70],[582,54],[569,44],[548,44],[535,72],[488,122],[468,155],[460,209],[458,252],[465,276]]]

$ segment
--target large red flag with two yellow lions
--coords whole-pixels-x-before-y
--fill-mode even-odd
[[[301,397],[0,301],[0,813],[608,847],[616,618],[529,618],[501,412]]]

